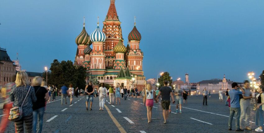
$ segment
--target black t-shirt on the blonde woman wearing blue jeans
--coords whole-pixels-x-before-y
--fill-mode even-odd
[[[34,86],[35,95],[37,97],[37,101],[33,102],[33,110],[39,109],[41,107],[45,107],[45,96],[48,90],[44,87]]]

